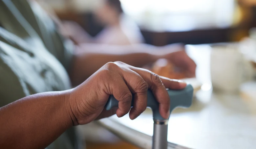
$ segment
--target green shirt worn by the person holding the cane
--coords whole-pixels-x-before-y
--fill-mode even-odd
[[[47,13],[27,0],[0,1],[0,107],[25,96],[71,88],[73,43]],[[40,134],[39,134],[40,135]],[[47,149],[80,148],[74,128]]]

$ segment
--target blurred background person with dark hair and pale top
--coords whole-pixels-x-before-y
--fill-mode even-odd
[[[63,22],[62,33],[76,43],[130,45],[144,42],[139,27],[124,14],[119,0],[103,0],[95,15],[104,26],[96,37],[91,37],[80,25],[72,21]]]

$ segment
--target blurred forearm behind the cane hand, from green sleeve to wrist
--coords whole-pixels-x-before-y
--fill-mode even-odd
[[[140,44],[134,46],[111,46],[100,44],[81,45],[75,54],[71,79],[80,84],[107,62],[122,61],[132,66],[142,67],[157,60],[156,48]]]

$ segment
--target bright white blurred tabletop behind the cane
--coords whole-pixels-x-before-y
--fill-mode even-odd
[[[203,85],[190,108],[172,112],[169,148],[256,148],[256,82],[243,84],[237,94],[214,92],[210,81],[210,46],[187,45],[186,50],[197,63],[197,80]],[[151,148],[153,120],[149,109],[133,121],[128,115],[113,116],[99,124],[141,148]]]

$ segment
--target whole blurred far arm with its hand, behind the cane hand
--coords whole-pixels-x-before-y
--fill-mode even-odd
[[[107,62],[122,61],[135,67],[142,67],[160,58],[168,59],[181,68],[186,77],[195,76],[196,64],[187,56],[181,44],[163,47],[148,44],[127,46],[81,44],[77,46],[70,76],[73,85],[77,85]]]

